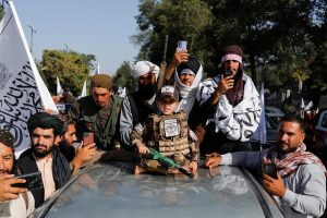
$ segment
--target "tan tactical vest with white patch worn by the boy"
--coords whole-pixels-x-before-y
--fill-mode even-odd
[[[187,155],[189,145],[189,126],[185,121],[186,114],[179,112],[171,116],[152,114],[147,126],[152,130],[150,140],[147,145],[155,147],[164,156]]]

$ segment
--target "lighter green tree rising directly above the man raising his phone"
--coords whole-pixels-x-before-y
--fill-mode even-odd
[[[133,36],[141,45],[138,60],[159,65],[162,61],[165,37],[169,35],[168,61],[173,57],[178,40],[187,40],[192,56],[205,59],[203,33],[211,22],[208,5],[201,0],[141,0],[141,14],[136,16],[140,33]]]

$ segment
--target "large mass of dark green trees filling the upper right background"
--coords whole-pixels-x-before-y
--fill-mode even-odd
[[[136,16],[141,45],[138,58],[159,63],[165,36],[168,58],[177,41],[189,41],[208,74],[220,64],[220,50],[237,44],[243,48],[244,65],[256,82],[256,69],[270,89],[296,88],[327,92],[326,0],[141,0]],[[170,61],[168,59],[168,62]],[[315,76],[312,76],[315,75]]]

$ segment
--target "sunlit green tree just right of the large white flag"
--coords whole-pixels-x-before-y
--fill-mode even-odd
[[[88,78],[92,60],[95,60],[93,55],[44,50],[41,72],[50,93],[56,94],[56,77],[58,76],[64,90],[72,92],[74,96],[80,95],[84,81]]]

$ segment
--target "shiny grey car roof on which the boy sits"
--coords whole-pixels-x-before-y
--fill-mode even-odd
[[[242,168],[199,167],[194,178],[135,175],[133,169],[126,161],[90,165],[32,217],[284,217],[274,197]]]

